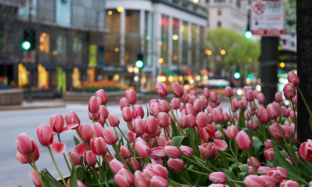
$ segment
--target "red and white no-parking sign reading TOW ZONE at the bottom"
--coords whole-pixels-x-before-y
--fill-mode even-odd
[[[279,36],[285,33],[285,2],[252,1],[250,31],[255,35]]]

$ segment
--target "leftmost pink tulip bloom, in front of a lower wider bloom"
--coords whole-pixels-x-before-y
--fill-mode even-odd
[[[20,153],[30,155],[35,151],[33,143],[33,140],[26,133],[21,133],[17,136],[15,146]]]

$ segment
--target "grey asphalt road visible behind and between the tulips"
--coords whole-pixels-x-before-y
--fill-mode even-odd
[[[143,109],[146,109],[146,104],[142,104]],[[225,111],[228,111],[229,103],[222,103],[221,106]],[[123,132],[126,132],[127,126],[122,118],[119,105],[108,105],[110,113],[114,113],[120,120],[119,127]],[[49,124],[50,116],[56,113],[61,113],[63,116],[66,112],[73,110],[80,118],[81,123],[92,124],[92,121],[88,117],[88,105],[87,104],[66,104],[64,108],[53,109],[28,109],[28,110],[12,110],[0,112],[0,142],[1,142],[1,170],[0,181],[1,187],[19,186],[30,187],[33,186],[32,180],[29,177],[29,172],[32,171],[32,167],[29,164],[21,164],[15,157],[15,140],[17,135],[26,132],[37,143],[38,149],[43,148],[40,152],[40,157],[36,161],[38,169],[46,168],[55,178],[59,178],[59,175],[52,163],[51,157],[46,147],[41,146],[38,141],[36,128],[38,125],[46,123]],[[146,112],[146,110],[145,110]],[[145,114],[146,118],[146,114]],[[73,135],[77,137],[74,130],[68,130],[61,134],[61,141],[66,144],[65,154],[75,147]],[[120,135],[119,135],[120,136]],[[57,141],[57,137],[54,137],[54,141]],[[111,147],[111,146],[110,146]],[[56,159],[56,163],[63,175],[69,174],[68,168],[65,164],[62,154],[53,152]]]

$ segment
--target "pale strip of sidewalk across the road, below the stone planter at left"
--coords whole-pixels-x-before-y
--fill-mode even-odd
[[[66,104],[60,99],[56,100],[35,100],[32,103],[23,101],[22,105],[0,106],[1,110],[22,110],[22,109],[41,109],[41,108],[59,108],[65,107]]]

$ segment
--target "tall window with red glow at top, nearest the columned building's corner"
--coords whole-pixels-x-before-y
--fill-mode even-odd
[[[160,57],[163,58],[163,63],[168,62],[168,35],[169,35],[169,17],[162,15],[160,18],[161,24],[161,54]]]

